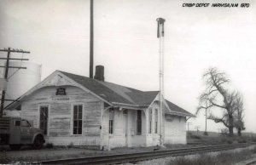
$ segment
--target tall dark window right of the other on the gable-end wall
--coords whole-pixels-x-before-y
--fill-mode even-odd
[[[82,134],[83,105],[73,105],[73,134]]]

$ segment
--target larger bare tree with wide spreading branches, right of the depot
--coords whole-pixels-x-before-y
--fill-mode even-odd
[[[233,106],[237,92],[230,92],[227,89],[230,79],[227,78],[224,72],[218,71],[217,68],[208,69],[203,78],[206,81],[207,88],[200,96],[200,103],[195,114],[213,107],[220,108],[223,111],[222,117],[216,117],[211,113],[208,119],[212,119],[214,122],[222,122],[225,127],[229,128],[229,134],[232,136],[235,112]]]

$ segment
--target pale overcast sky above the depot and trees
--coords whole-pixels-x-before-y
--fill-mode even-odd
[[[202,74],[218,67],[229,76],[230,88],[243,94],[246,128],[256,133],[256,3],[247,0],[249,8],[231,9],[183,8],[185,2],[96,0],[95,65],[105,66],[108,82],[159,90],[156,18],[163,17],[166,99],[195,113]],[[42,79],[55,70],[88,77],[89,39],[89,0],[0,1],[0,48],[31,51],[24,56],[42,64]],[[189,122],[190,129],[204,130],[204,113]],[[208,123],[211,131],[223,128]]]

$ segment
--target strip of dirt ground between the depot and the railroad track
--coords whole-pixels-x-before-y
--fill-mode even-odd
[[[154,151],[154,150],[166,150],[170,148],[183,148],[188,145],[168,145],[167,148],[162,147],[121,147],[115,148],[111,151],[97,151],[88,150],[85,148],[76,147],[53,147],[53,148],[43,148],[41,150],[32,150],[30,146],[24,146],[20,151],[10,151],[9,146],[0,146],[0,164],[3,163],[15,163],[15,162],[37,162],[44,160],[53,160],[61,158],[74,158],[74,157],[84,157],[84,156],[102,156],[111,154],[123,154],[123,153],[133,153],[142,151]],[[191,146],[191,145],[189,145]]]

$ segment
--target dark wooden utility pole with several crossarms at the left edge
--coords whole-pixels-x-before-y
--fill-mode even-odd
[[[0,49],[0,52],[7,52],[7,57],[6,58],[0,58],[0,60],[6,60],[5,66],[4,65],[0,65],[0,68],[5,68],[4,71],[4,79],[6,82],[8,82],[8,71],[9,68],[16,68],[16,69],[26,69],[26,67],[18,67],[18,66],[10,66],[9,65],[9,60],[28,60],[28,59],[17,59],[17,58],[11,58],[10,55],[11,53],[22,53],[22,54],[30,54],[30,52],[24,51],[22,49],[14,49],[14,48],[3,48]],[[5,89],[3,89],[2,91],[2,97],[1,97],[1,106],[0,106],[0,117],[3,116],[3,108],[4,108],[4,101],[5,101],[5,94],[6,91]],[[9,101],[15,101],[15,100],[9,100]]]

